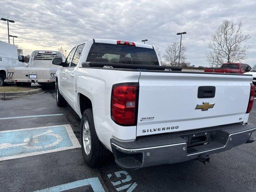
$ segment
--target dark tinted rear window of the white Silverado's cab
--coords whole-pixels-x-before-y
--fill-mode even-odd
[[[86,62],[159,65],[154,49],[106,43],[92,44]]]

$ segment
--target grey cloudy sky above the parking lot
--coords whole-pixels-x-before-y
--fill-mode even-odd
[[[256,64],[255,0],[1,0],[0,17],[14,20],[10,34],[24,54],[33,50],[64,50],[88,38],[108,38],[158,46],[162,52],[178,41],[188,47],[187,62],[208,66],[210,34],[229,19],[243,23],[252,38],[245,61]],[[0,21],[0,40],[8,42],[7,23]],[[68,52],[67,51],[67,52]],[[68,53],[67,53],[68,54]]]

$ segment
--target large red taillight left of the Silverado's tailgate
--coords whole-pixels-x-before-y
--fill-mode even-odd
[[[115,84],[111,95],[111,118],[122,126],[136,125],[138,83]]]

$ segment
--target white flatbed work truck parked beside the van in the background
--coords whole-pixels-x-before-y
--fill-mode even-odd
[[[59,51],[35,50],[30,56],[28,66],[8,68],[10,76],[7,78],[17,86],[31,86],[31,83],[55,83],[57,67],[52,64],[54,58],[65,59]]]

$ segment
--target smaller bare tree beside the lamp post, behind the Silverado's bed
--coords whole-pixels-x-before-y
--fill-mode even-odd
[[[180,49],[180,42],[173,42],[166,48],[163,58],[166,61],[166,65],[177,66],[180,52],[180,62],[185,62],[185,52],[188,50],[186,46],[182,46]]]

